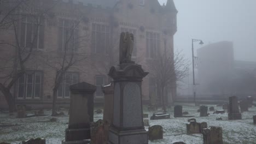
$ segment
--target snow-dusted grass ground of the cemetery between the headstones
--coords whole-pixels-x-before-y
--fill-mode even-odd
[[[213,114],[213,111],[208,111],[210,116],[200,117],[197,112],[199,106],[193,104],[182,104],[183,111],[188,111],[189,115],[194,115],[197,122],[207,122],[208,127],[217,126],[223,129],[224,143],[256,143],[256,125],[253,124],[253,115],[256,115],[256,107],[249,108],[249,112],[242,113],[241,120],[229,121],[228,113]],[[216,105],[215,110],[222,109]],[[96,107],[95,110],[99,109]],[[8,113],[0,112],[0,142],[20,143],[22,140],[30,138],[42,137],[46,139],[48,144],[60,144],[65,139],[65,129],[68,127],[68,110],[61,109],[64,116],[51,117],[50,110],[44,110],[46,116],[30,117],[30,118],[16,118],[16,116],[9,116]],[[59,112],[60,112],[59,111]],[[27,113],[33,113],[28,111]],[[143,113],[148,113],[150,119],[153,112],[149,112],[147,107],[144,107]],[[149,144],[169,144],[174,141],[184,141],[187,144],[201,144],[203,143],[202,134],[187,135],[186,123],[187,117],[173,117],[173,106],[168,109],[171,115],[170,119],[149,120],[149,125],[161,125],[164,128],[164,139],[149,141]],[[103,114],[94,114],[94,121],[102,119]],[[217,121],[217,117],[222,117],[222,121]],[[56,119],[53,119],[56,118]],[[56,121],[54,121],[56,120]],[[148,130],[148,127],[145,127]]]

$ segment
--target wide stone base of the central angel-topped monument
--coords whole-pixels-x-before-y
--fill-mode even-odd
[[[148,144],[148,132],[145,129],[117,130],[110,128],[107,144]]]

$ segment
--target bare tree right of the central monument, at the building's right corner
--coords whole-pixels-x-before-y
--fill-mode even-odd
[[[189,62],[180,51],[159,53],[149,64],[150,74],[155,78],[156,91],[161,101],[162,109],[166,112],[167,89],[175,88],[177,81],[182,81],[187,75]],[[174,100],[174,95],[172,95]]]

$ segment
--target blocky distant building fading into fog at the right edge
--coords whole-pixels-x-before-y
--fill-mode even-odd
[[[232,42],[208,44],[197,50],[197,56],[198,97],[245,97],[256,94],[256,64],[235,61]]]

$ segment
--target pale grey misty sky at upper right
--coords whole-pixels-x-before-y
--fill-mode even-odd
[[[160,4],[166,0],[159,0]],[[256,61],[256,0],[174,0],[179,11],[174,49],[191,59],[191,39],[233,41],[235,59]],[[194,43],[195,47],[200,47]],[[196,51],[196,50],[195,50]]]

